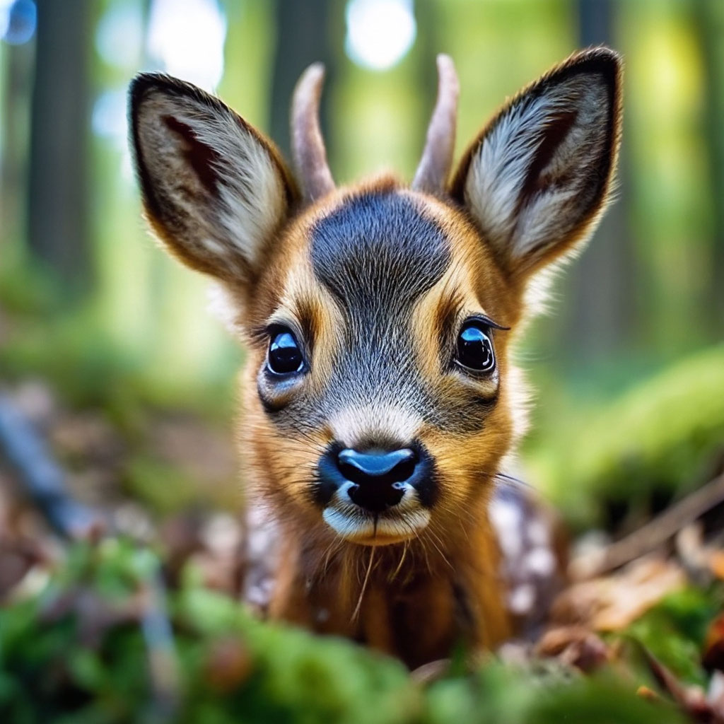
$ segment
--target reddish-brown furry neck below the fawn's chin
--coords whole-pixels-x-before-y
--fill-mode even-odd
[[[364,642],[411,668],[447,656],[459,641],[489,647],[508,629],[497,547],[487,515],[471,523],[445,534],[429,526],[376,547],[326,529],[285,529],[270,613]]]

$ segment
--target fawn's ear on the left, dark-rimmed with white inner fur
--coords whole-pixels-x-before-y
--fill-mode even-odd
[[[252,282],[297,198],[274,145],[218,98],[167,75],[136,76],[129,100],[153,230],[188,266]]]

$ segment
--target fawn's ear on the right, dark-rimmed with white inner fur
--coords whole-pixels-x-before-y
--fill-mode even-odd
[[[620,82],[614,51],[574,54],[506,104],[460,161],[452,196],[514,277],[593,232],[615,172]]]

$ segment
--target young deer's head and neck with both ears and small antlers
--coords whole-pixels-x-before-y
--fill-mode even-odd
[[[487,508],[525,426],[509,350],[606,206],[621,115],[618,55],[579,52],[505,104],[449,181],[458,80],[437,64],[410,186],[335,187],[319,64],[292,101],[295,175],[193,85],[130,88],[148,221],[221,282],[248,346],[248,497],[282,538],[271,615],[411,667],[508,634]]]

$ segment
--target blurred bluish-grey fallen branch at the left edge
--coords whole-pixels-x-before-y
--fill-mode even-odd
[[[51,527],[65,538],[87,538],[104,530],[101,515],[67,492],[65,476],[45,440],[8,395],[0,394],[0,452],[15,468],[25,494]]]

